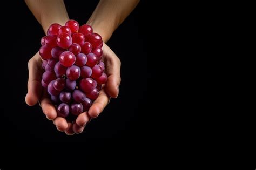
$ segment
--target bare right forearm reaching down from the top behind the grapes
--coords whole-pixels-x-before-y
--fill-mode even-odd
[[[87,24],[107,42],[138,3],[139,0],[100,0]]]

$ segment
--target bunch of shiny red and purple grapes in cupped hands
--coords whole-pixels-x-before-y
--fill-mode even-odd
[[[90,25],[75,20],[50,25],[41,39],[42,86],[56,106],[57,116],[77,117],[88,111],[107,81],[102,62],[102,37]]]

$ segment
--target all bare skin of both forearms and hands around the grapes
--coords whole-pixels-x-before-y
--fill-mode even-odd
[[[42,25],[45,34],[51,24],[59,23],[60,25],[65,25],[66,21],[69,20],[65,4],[62,0],[26,0],[25,2],[37,21]],[[99,33],[103,38],[103,42],[106,43],[114,30],[130,14],[138,2],[138,0],[99,1],[87,24],[91,25],[93,32]],[[57,117],[55,106],[53,106],[46,90],[41,85],[43,60],[38,52],[28,63],[29,80],[28,93],[25,97],[26,104],[33,106],[39,101],[46,118],[53,120],[53,124],[56,125],[59,131],[64,131],[68,135],[83,132],[86,123],[91,118],[96,118],[104,110],[109,103],[109,97],[117,98],[119,93],[121,62],[105,43],[102,49],[107,83],[100,90],[99,97],[93,102],[88,112],[81,113],[73,123],[66,121],[64,118]]]

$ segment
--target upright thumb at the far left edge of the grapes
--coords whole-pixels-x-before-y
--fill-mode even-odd
[[[28,64],[29,67],[29,80],[28,80],[28,93],[26,94],[25,101],[29,106],[35,105],[42,93],[41,76],[42,70],[38,66],[35,58],[31,59]]]

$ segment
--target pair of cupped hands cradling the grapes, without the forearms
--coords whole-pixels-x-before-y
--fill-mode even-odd
[[[91,118],[96,118],[109,103],[109,97],[116,98],[119,93],[120,85],[120,60],[114,52],[107,46],[103,45],[103,60],[106,66],[107,83],[100,90],[99,97],[94,101],[88,112],[81,113],[74,123],[67,122],[66,119],[57,117],[55,106],[51,103],[48,94],[41,85],[42,74],[42,59],[39,53],[36,53],[28,63],[29,80],[28,80],[28,94],[26,94],[26,104],[33,106],[38,101],[41,103],[42,110],[46,118],[53,120],[59,131],[65,131],[66,134],[72,135],[74,133],[81,133],[86,126],[86,123]]]

